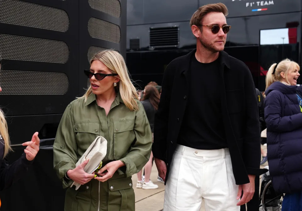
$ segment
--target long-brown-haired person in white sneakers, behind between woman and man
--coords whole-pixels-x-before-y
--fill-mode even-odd
[[[141,101],[141,103],[144,106],[144,109],[146,111],[148,121],[150,123],[151,131],[152,131],[152,137],[153,137],[153,131],[154,131],[154,115],[155,112],[158,109],[158,103],[159,103],[159,93],[155,86],[148,85],[144,89],[144,97]],[[153,162],[153,154],[151,152],[150,158],[148,163],[144,167],[144,180],[142,178],[142,170],[137,173],[137,188],[143,188],[143,189],[156,189],[158,188],[158,185],[154,184],[150,180],[150,174],[151,174],[151,168],[152,168],[152,162]]]

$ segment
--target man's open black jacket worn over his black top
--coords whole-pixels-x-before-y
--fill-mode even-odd
[[[155,114],[152,151],[155,158],[166,162],[165,182],[187,106],[190,60],[195,52],[196,49],[174,59],[164,72],[159,108]],[[225,51],[220,52],[218,59],[220,77],[217,80],[220,86],[212,89],[221,90],[221,121],[236,184],[245,184],[249,183],[248,174],[260,175],[267,171],[260,169],[260,129],[254,81],[242,61]],[[207,77],[206,73],[204,77]]]

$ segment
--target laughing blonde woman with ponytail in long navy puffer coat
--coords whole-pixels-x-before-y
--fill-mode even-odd
[[[299,65],[288,59],[266,74],[267,158],[275,191],[285,193],[282,211],[302,211],[302,109],[296,86]]]

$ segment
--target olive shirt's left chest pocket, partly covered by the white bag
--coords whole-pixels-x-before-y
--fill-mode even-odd
[[[79,122],[73,126],[76,134],[76,143],[78,152],[84,153],[90,144],[98,136],[103,136],[100,132],[100,123],[97,122]]]

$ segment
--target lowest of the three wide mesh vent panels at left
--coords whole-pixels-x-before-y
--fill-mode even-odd
[[[68,90],[65,73],[0,70],[0,95],[64,95]]]

